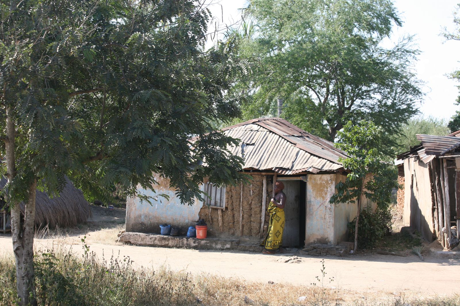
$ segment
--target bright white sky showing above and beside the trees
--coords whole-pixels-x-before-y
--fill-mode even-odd
[[[210,0],[213,16],[220,24],[231,25],[241,19],[238,12],[246,0]],[[460,69],[460,41],[447,41],[439,36],[443,27],[453,29],[453,12],[459,0],[395,0],[403,27],[394,28],[391,40],[397,42],[405,35],[415,35],[421,54],[414,69],[426,83],[426,93],[420,111],[425,116],[449,119],[460,106],[454,105],[459,95],[456,85],[446,74]],[[223,20],[222,20],[223,17]],[[212,27],[214,28],[214,26]]]

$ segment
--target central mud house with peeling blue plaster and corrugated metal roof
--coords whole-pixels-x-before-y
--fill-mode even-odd
[[[268,226],[266,207],[273,183],[279,180],[287,195],[283,245],[336,245],[347,239],[347,223],[356,216],[357,204],[329,203],[335,185],[345,179],[339,162],[340,157],[347,157],[345,152],[281,118],[253,119],[223,131],[241,140],[230,149],[244,158],[242,171],[252,176],[250,184],[219,188],[205,178],[202,188],[209,197],[187,206],[169,188],[168,179],[156,175],[155,193],[140,187],[138,191],[150,196],[167,194],[169,200],[151,206],[128,198],[127,232],[159,233],[162,223],[186,230],[203,218],[209,237],[260,239]]]

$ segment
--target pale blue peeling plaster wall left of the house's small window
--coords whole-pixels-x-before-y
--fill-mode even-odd
[[[126,231],[140,233],[160,233],[160,224],[171,224],[173,227],[181,228],[181,234],[186,233],[189,226],[195,225],[198,220],[198,213],[201,209],[201,202],[196,201],[194,205],[181,204],[175,195],[175,189],[169,187],[169,179],[160,178],[155,174],[158,185],[145,190],[138,186],[138,192],[148,196],[166,194],[169,199],[158,197],[152,201],[152,205],[141,202],[138,197],[127,198],[126,206]]]

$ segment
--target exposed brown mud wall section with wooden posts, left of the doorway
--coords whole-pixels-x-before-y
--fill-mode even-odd
[[[202,202],[199,203],[199,206],[201,207],[199,217],[200,219],[204,219],[206,221],[207,233],[209,236],[231,235],[259,237],[264,175],[253,174],[252,178],[253,179],[250,184],[243,184],[242,188],[241,185],[226,186],[224,210],[203,206]],[[271,175],[266,176],[266,207],[268,207],[272,193],[271,178]],[[242,201],[241,190],[243,191]],[[242,232],[240,231],[241,216]],[[268,220],[268,213],[265,209],[264,234],[268,228]]]

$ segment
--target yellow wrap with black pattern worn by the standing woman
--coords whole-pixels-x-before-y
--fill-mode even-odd
[[[277,250],[283,244],[284,209],[270,202],[267,210],[270,214],[270,223],[263,245],[266,250]]]

